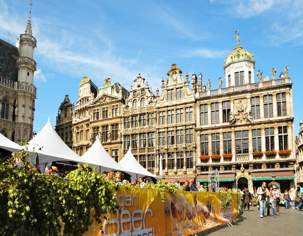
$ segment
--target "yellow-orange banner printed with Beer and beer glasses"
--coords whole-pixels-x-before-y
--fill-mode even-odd
[[[120,187],[117,201],[121,213],[111,214],[103,230],[94,220],[83,235],[173,236],[190,235],[235,220],[237,197],[227,208],[222,207],[220,193],[165,193],[163,202],[157,190]],[[91,211],[91,217],[93,216]]]

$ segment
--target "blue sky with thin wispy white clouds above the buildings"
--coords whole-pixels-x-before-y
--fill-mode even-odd
[[[0,0],[0,38],[15,44],[29,16],[28,0]],[[83,76],[101,87],[106,77],[128,90],[138,73],[154,93],[171,64],[202,73],[218,87],[224,58],[236,46],[254,52],[256,71],[277,76],[290,68],[295,133],[301,111],[300,56],[303,52],[303,0],[200,1],[33,1],[33,36],[37,39],[34,130],[56,115],[65,94],[78,98]],[[223,82],[223,85],[225,81]]]

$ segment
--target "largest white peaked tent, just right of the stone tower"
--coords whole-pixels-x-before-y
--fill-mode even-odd
[[[75,161],[80,163],[85,163],[86,161],[73,152],[59,137],[55,131],[51,121],[48,121],[43,129],[28,142],[28,150],[39,153],[39,164],[41,166],[41,171],[43,169],[42,164],[50,165],[53,161]],[[41,150],[39,150],[41,148]],[[33,163],[36,160],[31,158]]]

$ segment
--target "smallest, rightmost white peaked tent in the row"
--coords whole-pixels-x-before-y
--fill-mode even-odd
[[[157,175],[150,173],[142,165],[139,164],[139,162],[136,160],[136,158],[131,153],[130,148],[129,148],[128,152],[125,154],[125,156],[122,158],[122,160],[119,161],[119,164],[126,169],[136,172],[137,178],[143,177],[143,176],[149,176],[149,177],[155,178],[156,180],[160,180],[160,178]]]

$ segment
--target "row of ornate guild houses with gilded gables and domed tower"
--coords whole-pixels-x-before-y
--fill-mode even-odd
[[[220,186],[254,191],[262,181],[275,180],[281,190],[293,188],[289,68],[278,78],[273,68],[269,78],[261,70],[256,72],[255,64],[254,54],[237,43],[224,60],[225,82],[220,77],[218,88],[212,88],[210,79],[203,82],[201,73],[191,77],[186,73],[184,79],[173,64],[156,94],[140,73],[129,92],[110,78],[98,88],[83,77],[76,106],[69,99],[66,103],[73,115],[64,119],[72,123],[68,130],[73,130],[73,138],[60,128],[64,103],[57,132],[63,140],[73,140],[72,148],[79,155],[98,136],[116,161],[130,147],[144,168],[159,175],[162,160],[162,176],[168,181],[196,178],[204,184],[208,173],[218,169]]]

